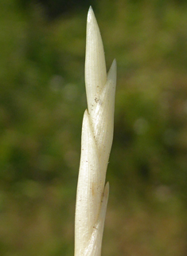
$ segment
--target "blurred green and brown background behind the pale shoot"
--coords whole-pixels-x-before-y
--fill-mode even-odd
[[[0,254],[73,255],[90,5],[118,63],[102,255],[185,256],[185,0],[1,0]]]

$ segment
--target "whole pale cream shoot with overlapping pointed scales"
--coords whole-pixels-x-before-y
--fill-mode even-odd
[[[84,112],[76,193],[75,256],[99,256],[107,210],[107,163],[114,129],[116,61],[107,73],[103,42],[92,7],[88,11]]]

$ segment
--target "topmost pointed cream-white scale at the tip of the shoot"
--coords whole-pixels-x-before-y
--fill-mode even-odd
[[[107,70],[100,35],[95,14],[90,7],[87,21],[85,84],[88,101],[88,112],[91,112],[95,97],[99,96],[107,81]]]

